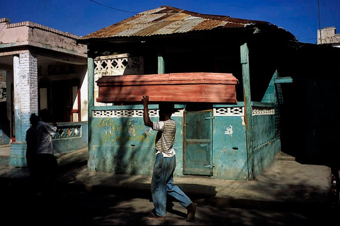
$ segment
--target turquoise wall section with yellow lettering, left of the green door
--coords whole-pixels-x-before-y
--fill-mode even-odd
[[[183,117],[171,117],[177,125],[174,149],[175,175],[183,175]],[[158,122],[158,117],[151,117]],[[156,131],[142,117],[92,118],[88,167],[117,174],[152,174]]]

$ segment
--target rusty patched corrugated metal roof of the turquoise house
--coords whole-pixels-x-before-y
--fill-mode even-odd
[[[194,13],[170,6],[138,13],[119,23],[85,35],[80,39],[152,36],[211,30],[242,28],[249,24],[270,24],[266,21],[232,18],[229,16]]]

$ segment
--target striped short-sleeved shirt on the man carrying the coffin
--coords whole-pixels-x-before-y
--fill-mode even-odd
[[[155,140],[156,155],[162,153],[163,157],[174,156],[176,122],[173,120],[153,122],[153,130],[158,131]]]

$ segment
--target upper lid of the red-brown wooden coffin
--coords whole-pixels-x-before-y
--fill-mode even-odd
[[[238,79],[231,73],[168,73],[147,75],[102,76],[98,86],[133,86],[158,84],[238,84]]]

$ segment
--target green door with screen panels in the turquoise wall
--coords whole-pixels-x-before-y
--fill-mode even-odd
[[[212,175],[212,110],[186,111],[183,173]]]

